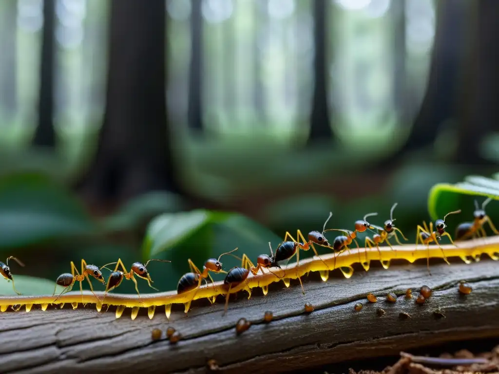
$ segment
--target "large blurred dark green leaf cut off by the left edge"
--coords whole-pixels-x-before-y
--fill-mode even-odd
[[[80,201],[50,178],[22,173],[0,179],[0,248],[95,232]]]

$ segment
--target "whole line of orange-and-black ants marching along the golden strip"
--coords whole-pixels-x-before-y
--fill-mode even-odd
[[[484,229],[484,225],[486,223],[489,224],[490,228],[495,234],[499,234],[498,230],[494,226],[493,222],[491,221],[490,217],[487,215],[485,211],[485,207],[487,204],[492,200],[492,198],[487,198],[481,206],[479,206],[478,201],[475,200],[475,211],[474,211],[474,220],[471,222],[464,222],[461,223],[457,226],[456,228],[456,235],[455,235],[455,240],[467,240],[475,237],[485,237],[486,236],[486,231]],[[230,251],[223,253],[219,256],[218,259],[216,258],[210,258],[208,259],[204,266],[203,266],[203,271],[201,271],[191,259],[188,259],[189,267],[190,267],[190,272],[184,274],[177,285],[177,293],[187,293],[187,292],[193,292],[192,299],[194,299],[195,294],[197,290],[201,287],[203,281],[208,285],[207,279],[210,279],[212,283],[214,283],[214,280],[212,276],[210,275],[210,272],[212,273],[224,273],[226,274],[226,277],[224,279],[224,288],[227,291],[227,296],[226,296],[226,305],[225,305],[225,311],[227,311],[227,306],[229,302],[229,293],[232,287],[236,287],[240,285],[243,282],[247,282],[247,278],[249,274],[256,275],[258,272],[264,273],[264,269],[266,269],[268,272],[274,274],[277,278],[284,278],[284,276],[278,276],[277,274],[273,273],[270,268],[276,267],[281,269],[279,262],[281,261],[289,261],[294,255],[296,255],[296,263],[298,265],[299,263],[299,250],[304,250],[308,251],[312,249],[314,254],[322,261],[324,262],[321,257],[319,256],[316,248],[314,245],[318,245],[321,247],[326,247],[329,248],[330,250],[333,251],[334,254],[334,266],[333,269],[336,268],[336,255],[344,252],[344,251],[349,251],[349,247],[351,246],[352,243],[355,243],[359,253],[359,262],[364,266],[365,270],[368,270],[368,261],[367,261],[367,247],[369,249],[373,249],[373,247],[376,247],[378,249],[379,255],[380,255],[380,261],[382,263],[382,266],[384,268],[388,268],[388,262],[384,261],[381,257],[381,249],[380,249],[380,244],[386,242],[390,248],[396,253],[396,250],[392,247],[392,244],[390,243],[390,239],[394,238],[396,242],[400,245],[402,243],[400,242],[400,239],[397,235],[397,232],[402,236],[404,240],[408,240],[402,231],[395,226],[394,221],[395,218],[393,218],[393,212],[395,207],[397,206],[397,203],[393,204],[393,206],[390,209],[390,218],[387,219],[383,226],[377,226],[374,225],[370,222],[367,221],[368,217],[372,217],[377,215],[378,213],[376,212],[371,212],[367,213],[364,215],[363,219],[357,220],[354,223],[354,230],[346,230],[346,229],[326,229],[327,222],[332,216],[332,212],[329,213],[328,218],[324,222],[324,225],[322,227],[322,231],[310,231],[307,235],[308,240],[306,240],[301,233],[301,231],[298,229],[296,233],[296,239],[289,233],[286,232],[284,236],[284,240],[277,246],[277,249],[275,252],[272,250],[271,243],[269,242],[269,247],[270,247],[270,256],[268,254],[261,254],[257,257],[256,259],[256,266],[251,262],[250,258],[246,255],[243,254],[242,257],[238,257],[233,254],[233,252],[237,251],[238,248]],[[443,258],[444,260],[449,264],[449,261],[447,260],[447,257],[445,255],[445,252],[440,245],[440,241],[443,236],[447,236],[449,240],[451,241],[452,244],[455,245],[454,241],[451,238],[451,235],[446,231],[447,224],[446,224],[446,218],[450,214],[457,214],[460,213],[461,210],[456,210],[456,211],[451,211],[447,213],[443,219],[437,219],[435,221],[435,230],[433,227],[433,222],[430,222],[429,225],[427,226],[426,222],[423,222],[423,225],[418,225],[417,226],[417,232],[416,232],[416,247],[414,250],[417,249],[418,243],[421,243],[423,245],[426,245],[428,248],[428,253],[429,253],[429,245],[430,243],[435,243],[437,244],[440,249],[442,250],[443,253]],[[364,249],[365,249],[365,259],[364,261],[361,258],[361,251],[359,244],[357,242],[357,234],[360,232],[366,232],[367,230],[371,231],[373,235],[372,237],[366,236],[365,237],[365,242],[364,242]],[[332,244],[326,239],[324,236],[325,232],[328,231],[340,231],[343,233],[343,235],[336,236],[334,240],[332,241]],[[231,255],[238,260],[241,261],[241,266],[240,267],[234,267],[231,270],[224,271],[222,269],[222,262],[221,258],[224,255]],[[13,290],[20,295],[20,293],[15,289],[14,286],[14,281],[12,274],[10,272],[10,268],[8,266],[8,261],[10,259],[15,260],[20,266],[24,266],[22,262],[20,262],[18,259],[15,257],[8,257],[6,262],[0,262],[0,274],[7,280],[12,281],[12,288]],[[121,261],[121,259],[118,259],[116,262],[111,262],[108,264],[105,264],[101,267],[98,267],[96,265],[90,264],[88,265],[85,260],[81,260],[81,272],[78,272],[77,267],[75,264],[71,261],[71,273],[63,273],[59,275],[59,277],[56,280],[56,285],[54,289],[53,296],[55,296],[55,291],[57,289],[57,285],[64,287],[63,291],[55,298],[54,302],[59,299],[60,296],[62,296],[64,293],[70,291],[73,287],[73,285],[76,282],[80,283],[80,292],[82,294],[82,299],[83,299],[83,287],[82,283],[86,279],[90,285],[90,290],[91,292],[95,295],[92,283],[90,282],[90,277],[97,279],[99,282],[102,284],[106,285],[105,288],[105,293],[104,293],[104,299],[107,295],[108,292],[110,292],[113,289],[116,289],[123,280],[132,280],[135,284],[135,290],[139,296],[139,300],[141,299],[140,297],[140,292],[138,290],[138,284],[137,280],[135,279],[135,276],[145,279],[148,282],[149,287],[153,288],[154,290],[157,290],[155,287],[152,286],[152,279],[151,276],[147,270],[147,265],[151,261],[161,261],[161,262],[171,262],[169,260],[162,260],[162,259],[150,259],[147,261],[145,264],[141,262],[135,262],[132,264],[130,267],[130,271],[128,272]],[[114,270],[111,270],[107,266],[116,264]],[[330,269],[324,262],[324,265],[328,270],[333,270]],[[122,270],[119,270],[119,267],[121,266]],[[428,261],[427,261],[427,267],[428,267],[428,272],[430,273],[430,265],[429,265],[429,255],[428,255]],[[102,269],[107,269],[111,273],[109,275],[108,281],[106,282],[104,280],[104,277],[102,275]],[[343,271],[343,270],[342,270]],[[296,278],[298,278],[300,282],[300,286],[302,289],[302,293],[305,294],[303,284],[301,282],[300,277],[298,275],[298,266],[296,266]],[[346,274],[345,274],[346,275]],[[430,273],[431,275],[431,273]],[[214,285],[215,287],[215,285]],[[249,288],[250,290],[250,288]],[[157,290],[158,291],[158,290]],[[96,296],[96,295],[95,295]],[[97,297],[97,296],[96,296]],[[103,299],[103,300],[104,300]],[[215,296],[210,299],[210,301],[213,303],[215,301]],[[190,303],[189,303],[190,304]],[[225,314],[225,312],[224,312]]]

